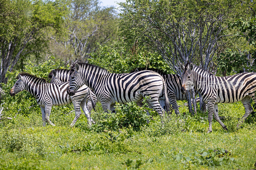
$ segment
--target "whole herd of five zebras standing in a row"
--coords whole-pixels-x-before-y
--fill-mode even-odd
[[[250,98],[256,102],[256,74],[241,73],[227,77],[217,77],[204,69],[187,63],[180,64],[182,76],[164,74],[157,70],[140,69],[126,74],[109,73],[106,69],[87,64],[76,63],[71,69],[56,69],[49,73],[50,83],[45,79],[28,73],[20,73],[10,91],[14,96],[27,90],[35,98],[42,110],[45,122],[55,126],[50,120],[53,105],[73,103],[74,126],[81,115],[81,109],[87,117],[88,124],[95,123],[90,116],[95,103],[99,101],[105,112],[114,112],[115,103],[140,103],[143,97],[150,96],[147,102],[160,116],[162,123],[165,112],[174,110],[178,115],[177,100],[186,100],[186,91],[196,89],[208,105],[208,132],[212,131],[213,115],[223,129],[227,130],[218,115],[217,103],[234,103],[241,101],[245,114],[240,124],[252,113]],[[168,99],[168,100],[167,100]],[[171,104],[171,107],[170,107]],[[240,124],[237,124],[239,127]]]

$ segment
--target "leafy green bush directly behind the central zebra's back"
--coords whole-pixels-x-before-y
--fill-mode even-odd
[[[161,69],[166,73],[173,73],[168,64],[157,53],[138,51],[132,53],[125,48],[123,41],[113,46],[101,46],[97,53],[91,53],[89,63],[108,69],[111,73],[129,73],[138,67]]]

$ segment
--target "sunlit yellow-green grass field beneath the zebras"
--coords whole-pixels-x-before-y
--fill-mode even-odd
[[[108,130],[88,128],[84,115],[69,127],[74,114],[57,107],[51,115],[56,127],[42,126],[38,106],[26,116],[9,113],[13,119],[0,122],[0,169],[255,169],[255,118],[248,117],[236,130],[243,105],[219,104],[219,111],[232,117],[223,122],[228,131],[213,121],[207,134],[208,121],[199,118],[206,115],[188,116],[182,106],[186,114],[166,117],[163,127],[155,116],[140,131],[111,131],[115,139]],[[100,114],[92,112],[96,122]]]

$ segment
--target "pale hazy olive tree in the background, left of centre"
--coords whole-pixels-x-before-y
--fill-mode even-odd
[[[89,53],[98,49],[96,43],[106,44],[114,39],[114,8],[101,8],[98,0],[72,0],[65,18],[66,37],[52,37],[52,53],[61,56],[64,64],[85,62]]]

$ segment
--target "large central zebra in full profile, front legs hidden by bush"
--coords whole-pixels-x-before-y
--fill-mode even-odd
[[[79,87],[86,84],[95,92],[104,111],[114,110],[115,102],[122,104],[138,102],[143,97],[150,96],[148,103],[151,107],[161,118],[165,113],[159,104],[159,97],[164,95],[167,98],[166,86],[163,77],[156,72],[146,70],[114,74],[101,67],[85,63],[76,63],[73,70],[67,89],[70,96],[73,96]],[[169,111],[168,100],[165,100],[165,106]]]

